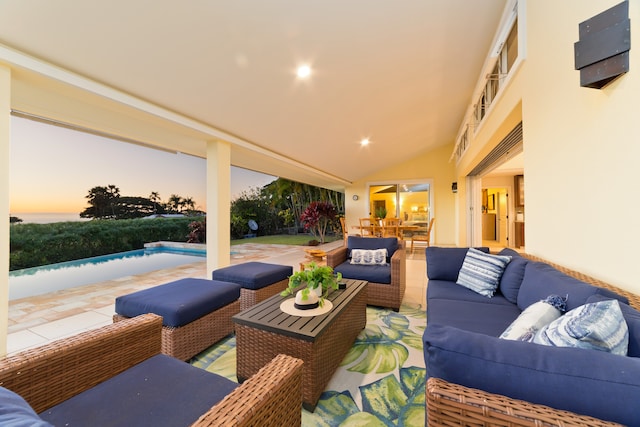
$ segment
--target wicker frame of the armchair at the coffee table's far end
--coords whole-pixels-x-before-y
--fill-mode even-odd
[[[327,265],[335,268],[347,259],[347,247],[342,246],[327,252]],[[398,249],[391,257],[391,284],[369,282],[367,286],[367,305],[400,310],[402,298],[407,288],[407,256],[404,240],[398,240]],[[359,279],[359,277],[348,277]]]

